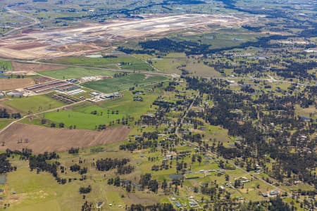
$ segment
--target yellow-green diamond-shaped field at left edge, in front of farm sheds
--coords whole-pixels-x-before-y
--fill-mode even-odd
[[[23,114],[39,113],[44,110],[65,106],[62,101],[56,101],[49,95],[28,96],[22,98],[11,98],[8,101],[1,102],[4,106],[11,107]]]

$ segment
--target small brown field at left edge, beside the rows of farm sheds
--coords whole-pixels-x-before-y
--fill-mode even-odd
[[[29,87],[34,85],[35,82],[32,78],[12,78],[12,79],[0,79],[0,91],[18,89],[21,87]]]

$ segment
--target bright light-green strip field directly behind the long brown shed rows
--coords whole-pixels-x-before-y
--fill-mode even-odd
[[[64,70],[50,70],[39,73],[56,79],[80,79],[81,77],[87,76],[111,76],[114,72],[87,68],[67,68]]]

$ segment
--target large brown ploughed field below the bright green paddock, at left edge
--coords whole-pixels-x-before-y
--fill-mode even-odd
[[[66,151],[71,147],[84,148],[123,141],[129,132],[130,128],[124,126],[97,132],[87,129],[59,129],[15,123],[0,134],[0,151],[6,148],[19,151],[30,148],[36,154]],[[3,142],[5,146],[2,146]]]

